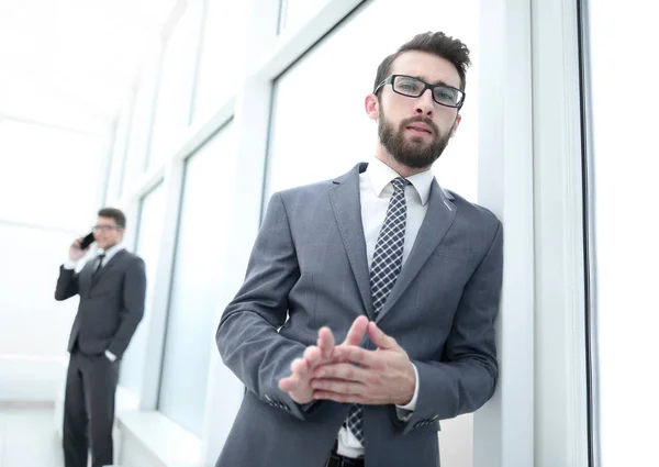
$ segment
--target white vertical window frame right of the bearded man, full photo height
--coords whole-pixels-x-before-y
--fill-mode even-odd
[[[578,5],[532,1],[536,467],[592,466]]]

